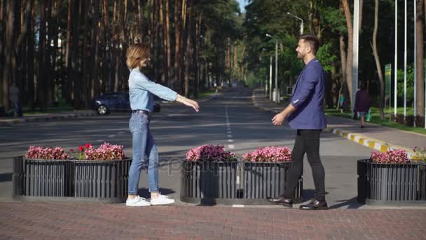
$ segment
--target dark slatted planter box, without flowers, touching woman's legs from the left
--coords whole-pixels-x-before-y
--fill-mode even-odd
[[[130,159],[72,161],[73,196],[123,202],[127,196],[130,163]]]

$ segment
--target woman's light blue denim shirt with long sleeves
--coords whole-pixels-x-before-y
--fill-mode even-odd
[[[149,80],[139,69],[132,69],[129,75],[129,98],[132,110],[152,112],[153,95],[168,101],[174,101],[177,98],[177,93],[172,89]]]

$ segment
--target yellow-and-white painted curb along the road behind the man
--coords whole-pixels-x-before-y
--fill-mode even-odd
[[[256,90],[254,90],[254,91],[256,91]],[[269,109],[268,107],[259,106],[258,102],[256,102],[256,97],[254,96],[254,91],[253,91],[253,94],[252,94],[252,100],[253,100],[255,107],[258,107],[259,109],[262,109],[263,111],[266,111],[266,112],[277,113],[277,112],[273,111],[272,109]],[[406,147],[399,147],[399,146],[395,146],[395,145],[390,145],[387,142],[383,142],[383,141],[376,140],[376,139],[373,139],[373,138],[368,138],[364,135],[357,134],[357,133],[350,133],[349,131],[346,131],[346,130],[343,130],[343,129],[327,127],[327,130],[329,130],[330,132],[332,132],[336,135],[340,135],[343,138],[351,140],[352,142],[357,142],[359,145],[363,145],[364,147],[369,147],[369,148],[376,150],[376,151],[379,151],[379,152],[387,152],[387,150],[391,150],[391,149],[403,149],[407,153],[408,159],[420,160],[420,158],[418,156],[415,156],[415,152],[413,152],[411,149],[407,149]]]

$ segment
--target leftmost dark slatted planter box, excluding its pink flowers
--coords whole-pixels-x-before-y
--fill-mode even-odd
[[[67,160],[13,159],[15,196],[69,196]]]

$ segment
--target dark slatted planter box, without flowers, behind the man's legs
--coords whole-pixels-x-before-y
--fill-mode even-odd
[[[242,162],[242,198],[268,199],[284,194],[290,162]],[[294,193],[294,202],[303,198],[303,179]]]

